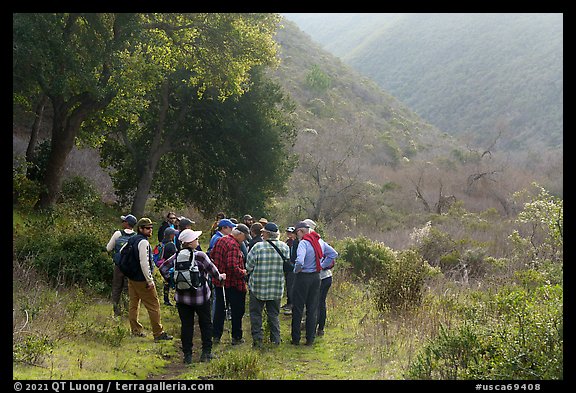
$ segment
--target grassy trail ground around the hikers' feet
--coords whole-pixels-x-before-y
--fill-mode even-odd
[[[378,354],[370,347],[370,341],[363,337],[365,332],[359,328],[362,307],[351,307],[346,301],[342,302],[346,298],[338,294],[341,289],[338,284],[331,288],[334,293],[328,295],[326,333],[317,337],[313,346],[290,344],[291,316],[281,313],[281,344],[273,346],[267,342],[265,322],[264,347],[254,349],[250,318],[246,312],[242,320],[245,342],[236,346],[230,344],[231,322],[226,321],[222,341],[214,345],[215,359],[210,363],[199,362],[200,329],[196,321],[191,365],[183,364],[180,319],[175,307],[161,305],[162,324],[174,340],[155,343],[144,307],[140,309],[140,321],[147,336],[132,337],[127,315],[114,318],[109,301],[94,300],[85,303],[75,318],[60,321],[58,338],[53,339],[51,350],[41,362],[36,362],[36,365],[14,363],[13,377],[72,380],[401,378],[387,371],[390,359]],[[303,340],[304,336],[303,332]]]

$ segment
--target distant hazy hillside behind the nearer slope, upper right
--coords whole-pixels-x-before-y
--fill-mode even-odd
[[[562,147],[562,14],[285,16],[450,134]]]

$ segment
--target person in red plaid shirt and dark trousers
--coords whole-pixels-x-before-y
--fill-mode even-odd
[[[214,310],[214,342],[220,342],[224,331],[224,295],[232,311],[232,345],[244,342],[242,338],[242,317],[246,310],[246,269],[244,254],[240,245],[250,236],[248,227],[238,224],[232,233],[221,237],[210,251],[210,259],[218,271],[226,274],[226,281],[212,279],[216,292],[216,307]]]

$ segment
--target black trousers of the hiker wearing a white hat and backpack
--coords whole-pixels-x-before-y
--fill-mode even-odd
[[[202,338],[202,352],[212,352],[212,320],[210,319],[210,301],[205,301],[201,306],[176,303],[180,316],[180,338],[182,340],[182,352],[192,353],[192,339],[194,338],[194,313],[198,314],[198,325]]]

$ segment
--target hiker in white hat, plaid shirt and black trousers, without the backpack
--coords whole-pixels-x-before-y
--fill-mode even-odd
[[[217,277],[219,282],[226,279],[226,274],[218,271],[216,266],[210,261],[210,258],[202,252],[196,251],[198,247],[198,237],[202,231],[193,231],[184,229],[180,232],[180,241],[182,249],[176,256],[178,261],[187,261],[190,259],[190,253],[195,254],[195,261],[198,265],[200,274],[206,276],[208,273],[212,277]],[[198,314],[198,325],[200,326],[200,335],[202,336],[202,354],[201,362],[208,362],[212,359],[212,320],[210,318],[210,288],[207,280],[198,289],[181,290],[176,289],[176,308],[180,316],[181,328],[180,334],[182,339],[182,352],[184,353],[184,363],[192,363],[192,339],[194,337],[194,313]]]

